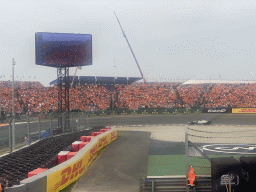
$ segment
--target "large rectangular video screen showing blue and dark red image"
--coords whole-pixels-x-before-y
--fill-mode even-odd
[[[36,64],[49,67],[92,65],[92,35],[38,32]]]

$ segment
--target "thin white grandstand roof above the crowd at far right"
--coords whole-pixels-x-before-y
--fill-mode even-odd
[[[221,83],[225,83],[225,84],[252,84],[252,83],[256,83],[256,81],[231,81],[231,80],[188,80],[184,83],[182,83],[182,85],[190,85],[190,84],[221,84]]]

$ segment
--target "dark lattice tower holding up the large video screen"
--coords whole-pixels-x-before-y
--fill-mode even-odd
[[[69,68],[57,68],[58,79],[58,128],[65,133],[69,127]]]

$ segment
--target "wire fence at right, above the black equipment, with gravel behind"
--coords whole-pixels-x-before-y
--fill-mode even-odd
[[[187,167],[196,175],[211,175],[211,159],[256,156],[256,127],[189,125],[185,127]]]

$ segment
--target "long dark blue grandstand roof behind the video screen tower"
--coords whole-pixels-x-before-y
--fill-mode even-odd
[[[69,76],[69,83],[73,81],[72,76]],[[85,84],[97,84],[97,85],[113,85],[113,84],[131,84],[135,81],[141,80],[141,77],[101,77],[101,76],[75,76],[74,85]],[[58,82],[58,79],[50,82],[50,85],[54,85]]]

